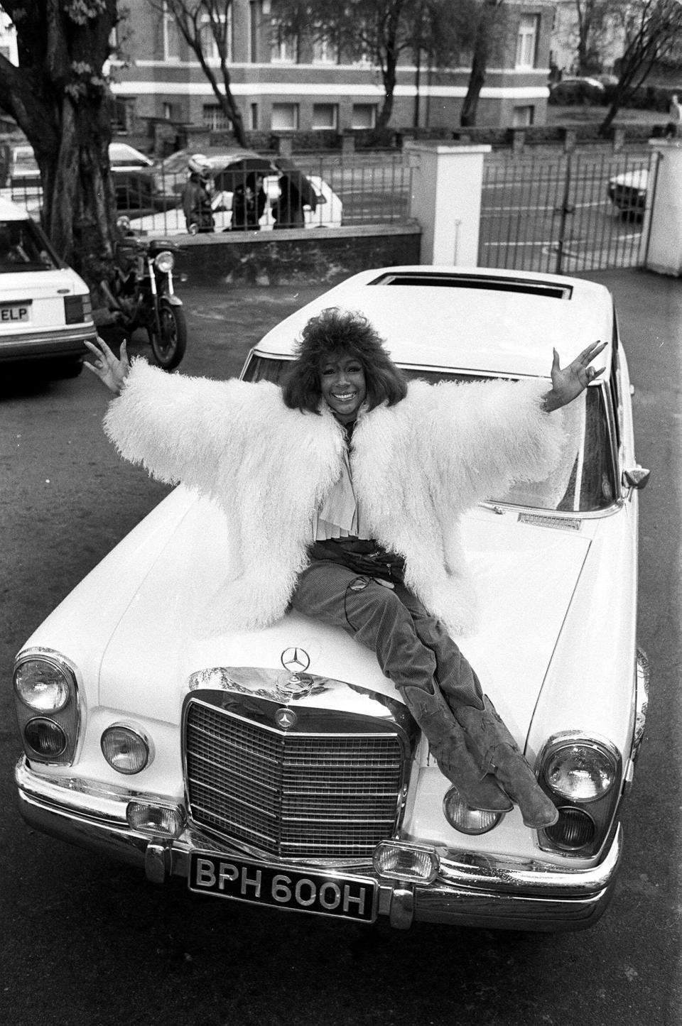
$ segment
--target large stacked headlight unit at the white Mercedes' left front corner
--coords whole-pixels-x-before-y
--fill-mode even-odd
[[[14,664],[14,700],[28,758],[69,765],[80,722],[76,673],[69,660],[45,648],[20,653]]]

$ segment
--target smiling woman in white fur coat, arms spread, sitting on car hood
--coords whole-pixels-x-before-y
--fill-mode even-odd
[[[553,413],[595,377],[588,347],[544,381],[408,384],[359,313],[324,310],[303,329],[283,388],[168,376],[116,359],[86,364],[118,395],[105,429],[154,477],[211,497],[229,523],[221,629],[263,628],[294,608],[372,648],[475,808],[558,819],[452,635],[476,602],[461,514],[559,462]],[[511,800],[509,800],[511,799]]]

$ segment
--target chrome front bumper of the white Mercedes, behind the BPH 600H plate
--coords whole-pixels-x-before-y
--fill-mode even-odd
[[[188,876],[193,851],[215,851],[238,859],[230,849],[192,826],[177,838],[143,835],[130,829],[124,788],[87,786],[76,778],[34,773],[22,756],[16,764],[20,811],[29,826],[72,844],[144,867],[148,878],[161,883],[173,875]],[[136,795],[137,800],[152,796]],[[159,800],[157,798],[157,800]],[[167,801],[166,801],[167,803]],[[618,825],[601,862],[589,869],[558,868],[539,860],[521,862],[500,857],[443,851],[432,883],[405,883],[376,874],[366,862],[339,866],[339,878],[372,877],[379,886],[378,915],[391,925],[412,922],[448,923],[489,929],[572,931],[592,926],[606,909],[622,853]],[[276,860],[269,860],[276,865]],[[319,865],[305,864],[312,869]],[[301,864],[304,868],[304,864]],[[325,865],[329,870],[329,864]]]

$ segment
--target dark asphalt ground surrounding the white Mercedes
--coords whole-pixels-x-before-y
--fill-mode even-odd
[[[8,1026],[668,1026],[680,1001],[680,382],[682,284],[589,275],[614,291],[636,384],[640,640],[647,738],[610,909],[591,931],[408,933],[192,898],[32,833],[15,811],[11,660],[166,488],[121,463],[107,393],[0,379],[0,1022]],[[183,372],[238,372],[251,345],[321,289],[187,290]],[[146,352],[144,341],[136,346]],[[1,371],[0,371],[1,373]],[[150,624],[153,630],[153,624]],[[597,682],[596,682],[597,683]]]

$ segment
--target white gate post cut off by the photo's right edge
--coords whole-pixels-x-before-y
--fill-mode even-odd
[[[651,140],[659,154],[649,221],[646,267],[682,274],[682,139]],[[646,227],[646,225],[645,225]]]

